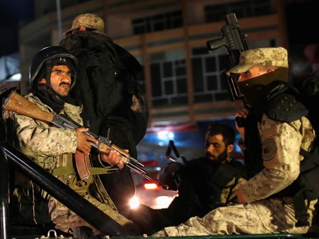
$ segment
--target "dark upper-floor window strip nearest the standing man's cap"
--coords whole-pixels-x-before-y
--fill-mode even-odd
[[[145,16],[132,20],[135,35],[147,32],[162,31],[183,25],[181,10]]]

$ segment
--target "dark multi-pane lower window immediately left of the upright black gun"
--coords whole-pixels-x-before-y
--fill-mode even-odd
[[[194,103],[229,100],[224,68],[229,66],[224,49],[208,52],[206,47],[192,49]]]

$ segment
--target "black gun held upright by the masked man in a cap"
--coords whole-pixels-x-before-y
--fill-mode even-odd
[[[238,65],[240,52],[248,50],[248,45],[246,41],[246,36],[240,32],[239,24],[235,13],[229,13],[225,16],[226,25],[224,25],[220,32],[222,34],[221,38],[209,40],[206,42],[208,51],[216,50],[222,46],[227,49],[227,53],[230,57],[230,68]],[[231,101],[243,100],[243,104],[249,109],[250,106],[244,101],[243,96],[237,86],[237,78],[228,76],[226,74],[227,70],[222,71],[224,77],[228,83],[228,91],[231,95]],[[243,124],[243,118],[236,117],[238,126]]]

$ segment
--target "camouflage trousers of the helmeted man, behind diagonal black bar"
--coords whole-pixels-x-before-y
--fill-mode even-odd
[[[105,214],[107,214],[110,218],[115,220],[117,223],[119,223],[121,226],[123,226],[128,231],[131,231],[133,233],[137,232],[136,225],[129,219],[125,218],[121,214],[119,214],[117,211],[113,210],[110,206],[100,203],[95,198],[85,195],[83,196],[86,200],[88,200],[90,203],[92,203],[94,206],[99,208],[101,211],[103,211]],[[86,226],[92,229],[92,232],[95,235],[101,234],[97,229],[92,227],[90,224],[88,224],[86,221],[84,221],[81,217],[77,216],[75,213],[73,213],[71,210],[69,210],[67,207],[65,207],[62,203],[57,201],[55,198],[50,197],[49,203],[49,213],[51,215],[51,220],[55,224],[55,228],[59,229],[63,232],[73,234],[74,228],[76,227],[82,227]]]

